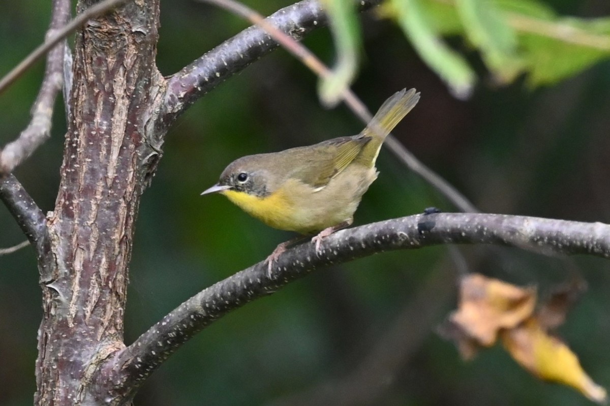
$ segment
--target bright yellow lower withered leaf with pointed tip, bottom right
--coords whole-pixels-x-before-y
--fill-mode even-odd
[[[605,388],[590,379],[578,357],[561,340],[548,335],[536,317],[503,330],[501,338],[511,356],[535,376],[572,386],[592,401],[606,402]]]

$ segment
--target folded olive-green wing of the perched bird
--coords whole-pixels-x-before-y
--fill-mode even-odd
[[[300,162],[298,169],[292,174],[302,182],[315,188],[323,188],[330,180],[341,173],[362,151],[371,137],[356,135],[354,137],[339,137],[323,141],[308,148],[309,157]],[[309,152],[308,151],[308,152]]]

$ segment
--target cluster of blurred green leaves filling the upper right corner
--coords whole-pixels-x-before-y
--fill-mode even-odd
[[[391,0],[382,13],[398,20],[420,57],[462,96],[475,75],[442,35],[467,38],[501,83],[523,73],[531,86],[553,84],[610,57],[610,18],[560,18],[537,0]]]

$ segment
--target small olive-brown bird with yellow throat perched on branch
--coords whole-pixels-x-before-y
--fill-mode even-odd
[[[224,194],[276,229],[318,233],[312,241],[320,252],[324,237],[353,222],[362,195],[377,179],[381,144],[419,98],[415,89],[393,94],[358,135],[234,160],[201,194]],[[279,244],[267,258],[270,272],[291,243]]]

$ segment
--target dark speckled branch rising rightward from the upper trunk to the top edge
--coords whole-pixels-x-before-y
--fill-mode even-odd
[[[380,2],[362,0],[358,4],[361,10],[366,10]],[[265,20],[297,41],[328,23],[317,0],[303,0],[284,7]],[[165,101],[157,118],[155,134],[165,134],[188,106],[278,46],[265,30],[251,26],[173,74],[167,81]]]

